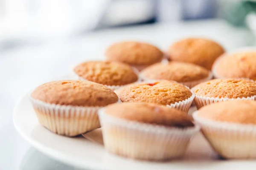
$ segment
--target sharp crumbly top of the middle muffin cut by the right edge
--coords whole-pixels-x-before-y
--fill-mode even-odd
[[[213,79],[192,88],[198,96],[242,98],[256,95],[256,82],[247,79]]]

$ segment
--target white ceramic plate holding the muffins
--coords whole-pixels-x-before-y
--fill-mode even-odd
[[[17,103],[13,112],[13,121],[20,135],[35,148],[54,159],[81,168],[98,170],[235,170],[256,167],[256,161],[218,159],[200,133],[192,139],[182,160],[147,162],[115,156],[107,153],[101,144],[82,136],[76,138],[59,136],[41,126],[29,102],[28,94]]]

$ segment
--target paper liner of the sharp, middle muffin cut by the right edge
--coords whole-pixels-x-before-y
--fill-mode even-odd
[[[192,89],[193,91],[193,89]],[[206,96],[198,96],[195,94],[195,105],[198,109],[203,106],[210,105],[212,103],[223,102],[227,100],[256,100],[256,96],[251,97],[242,97],[242,98],[215,98],[215,97],[206,97]]]

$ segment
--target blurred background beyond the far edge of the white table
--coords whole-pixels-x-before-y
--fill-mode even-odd
[[[0,0],[0,50],[119,26],[222,18],[256,32],[254,0]]]

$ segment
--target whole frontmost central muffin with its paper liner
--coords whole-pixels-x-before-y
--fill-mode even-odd
[[[106,150],[132,159],[180,158],[199,131],[186,113],[152,103],[109,105],[99,119]]]

